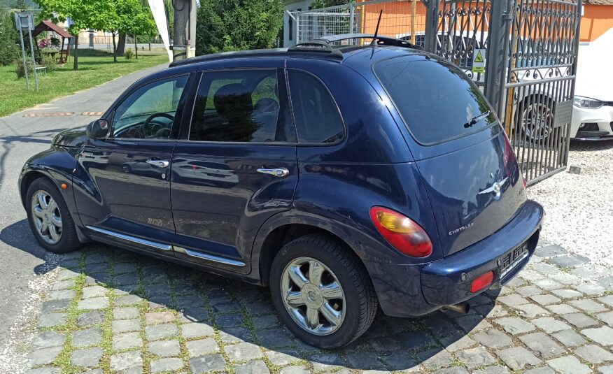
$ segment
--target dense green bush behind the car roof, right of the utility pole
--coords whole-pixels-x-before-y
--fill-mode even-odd
[[[196,54],[271,48],[282,26],[281,0],[201,0]]]

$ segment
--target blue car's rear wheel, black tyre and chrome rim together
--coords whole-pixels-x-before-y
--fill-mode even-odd
[[[288,329],[320,348],[340,347],[360,337],[372,324],[378,305],[355,254],[319,234],[283,246],[272,264],[270,289]]]

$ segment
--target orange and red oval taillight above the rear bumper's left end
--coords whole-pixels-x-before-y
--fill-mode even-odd
[[[432,242],[421,226],[395,210],[373,206],[370,219],[388,243],[411,257],[428,257]]]

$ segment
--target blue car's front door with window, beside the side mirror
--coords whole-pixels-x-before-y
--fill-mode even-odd
[[[92,236],[172,254],[169,173],[187,85],[178,75],[134,87],[116,104],[108,137],[83,146],[88,189],[75,198]]]

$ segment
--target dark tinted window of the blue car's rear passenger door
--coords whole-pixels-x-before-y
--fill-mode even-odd
[[[280,92],[285,89],[276,69],[205,72],[190,141],[295,143],[286,95]]]

